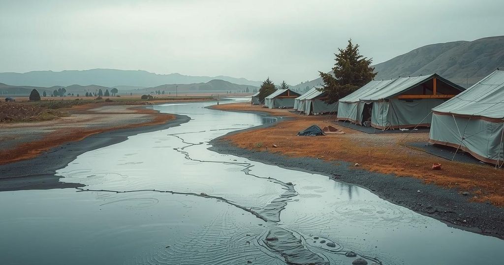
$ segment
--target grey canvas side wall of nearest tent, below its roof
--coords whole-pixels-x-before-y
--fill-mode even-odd
[[[504,161],[503,122],[434,113],[431,123],[429,143],[460,146],[486,163],[501,164]]]

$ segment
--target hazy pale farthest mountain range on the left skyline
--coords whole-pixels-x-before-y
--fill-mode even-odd
[[[116,69],[91,69],[83,71],[33,71],[27,73],[0,73],[0,82],[17,86],[70,86],[99,85],[105,87],[134,86],[155,87],[162,84],[205,83],[218,79],[240,85],[259,86],[261,82],[229,76],[187,76],[175,74],[155,74],[147,71],[130,71]]]

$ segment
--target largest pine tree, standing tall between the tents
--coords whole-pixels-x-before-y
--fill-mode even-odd
[[[332,75],[319,72],[324,80],[322,91],[326,92],[328,103],[338,101],[353,91],[359,89],[369,81],[373,80],[377,73],[371,67],[372,59],[367,59],[359,54],[359,44],[352,44],[348,40],[345,49],[338,48],[339,54],[335,54]]]

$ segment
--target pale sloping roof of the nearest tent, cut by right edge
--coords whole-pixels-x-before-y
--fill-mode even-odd
[[[432,110],[458,115],[504,118],[504,71],[496,70]]]

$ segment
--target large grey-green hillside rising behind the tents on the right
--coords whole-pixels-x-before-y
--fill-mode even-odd
[[[378,73],[375,80],[437,73],[467,87],[504,67],[504,36],[430,44],[373,67]],[[292,88],[304,90],[321,83],[317,78]]]

